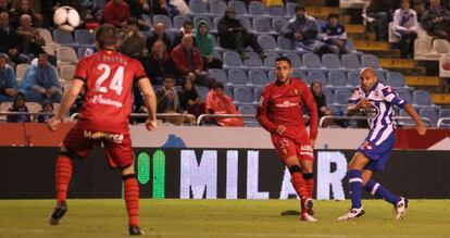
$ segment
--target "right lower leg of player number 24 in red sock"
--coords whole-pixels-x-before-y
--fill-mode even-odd
[[[143,235],[143,231],[139,228],[139,185],[136,175],[124,175],[122,179],[124,181],[125,203],[128,213],[129,235]]]

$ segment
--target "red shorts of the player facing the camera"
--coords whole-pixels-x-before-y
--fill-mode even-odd
[[[286,161],[288,158],[297,156],[300,161],[314,162],[314,153],[311,145],[300,145],[292,139],[273,135],[272,142],[278,156]]]

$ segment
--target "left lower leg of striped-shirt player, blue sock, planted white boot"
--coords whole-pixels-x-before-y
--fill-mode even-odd
[[[362,193],[362,174],[359,170],[352,170],[349,172],[350,183],[350,197],[351,209],[342,216],[338,217],[338,221],[347,221],[364,215],[364,208],[361,203]]]

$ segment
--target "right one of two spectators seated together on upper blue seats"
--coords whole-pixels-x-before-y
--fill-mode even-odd
[[[328,45],[333,53],[348,53],[350,51],[346,47],[346,27],[339,23],[339,15],[337,13],[328,15],[328,23],[322,26],[320,38]]]

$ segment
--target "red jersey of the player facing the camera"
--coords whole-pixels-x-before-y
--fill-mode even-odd
[[[304,107],[310,112],[309,137],[304,126]],[[310,138],[317,137],[317,109],[314,97],[308,86],[297,78],[291,78],[289,85],[267,85],[261,93],[257,117],[272,134],[276,134],[278,125],[286,126],[286,131],[282,136],[302,145],[309,145]]]

